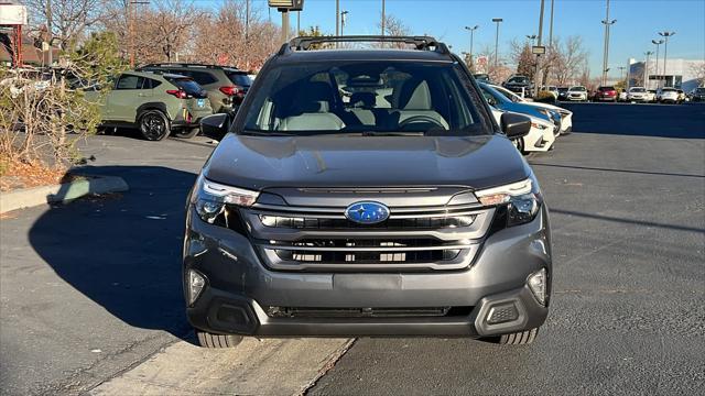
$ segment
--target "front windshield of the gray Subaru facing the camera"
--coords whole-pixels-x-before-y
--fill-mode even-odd
[[[492,133],[457,65],[326,62],[279,66],[250,98],[243,133]]]

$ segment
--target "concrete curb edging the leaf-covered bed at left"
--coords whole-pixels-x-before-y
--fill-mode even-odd
[[[43,204],[66,202],[89,194],[122,193],[130,187],[117,176],[89,176],[72,183],[23,188],[0,194],[0,213]]]

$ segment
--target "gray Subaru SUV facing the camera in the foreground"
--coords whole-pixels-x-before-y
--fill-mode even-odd
[[[321,50],[339,41],[357,48]],[[551,295],[549,212],[510,141],[530,120],[498,125],[446,45],[299,37],[229,117],[202,122],[220,143],[186,217],[184,295],[203,346],[533,341]]]

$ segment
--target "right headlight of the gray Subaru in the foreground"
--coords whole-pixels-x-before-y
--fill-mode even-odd
[[[532,178],[505,186],[475,191],[485,206],[507,205],[507,227],[532,221],[543,201],[539,185]]]

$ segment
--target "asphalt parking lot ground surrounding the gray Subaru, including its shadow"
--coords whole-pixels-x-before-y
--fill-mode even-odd
[[[529,160],[551,208],[555,278],[534,344],[175,351],[192,337],[185,197],[213,145],[95,136],[85,170],[119,175],[129,193],[0,220],[0,393],[148,393],[127,376],[154,394],[705,394],[705,106],[566,107],[576,133]]]

